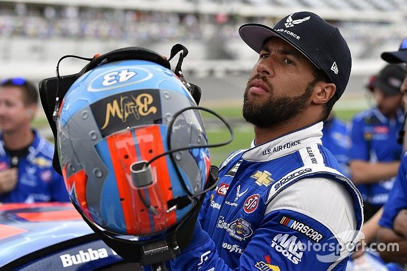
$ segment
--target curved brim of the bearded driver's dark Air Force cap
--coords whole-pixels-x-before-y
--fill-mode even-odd
[[[239,27],[239,35],[242,38],[242,40],[257,53],[260,53],[261,46],[263,46],[263,43],[267,38],[279,37],[284,41],[288,42],[297,50],[299,50],[318,69],[322,69],[322,67],[319,67],[319,65],[315,61],[313,61],[313,59],[300,46],[295,44],[293,41],[287,39],[279,32],[275,31],[273,28],[270,28],[266,25],[258,23],[243,24],[242,26]]]

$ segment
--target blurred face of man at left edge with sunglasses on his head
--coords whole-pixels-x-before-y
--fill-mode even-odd
[[[30,126],[33,113],[30,113],[29,109],[33,110],[24,105],[20,87],[0,87],[0,129],[2,132],[13,132],[27,125]]]

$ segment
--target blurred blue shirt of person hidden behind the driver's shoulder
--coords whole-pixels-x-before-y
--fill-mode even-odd
[[[331,111],[328,118],[324,121],[322,133],[322,145],[334,155],[336,160],[338,160],[343,175],[350,177],[347,158],[349,138],[346,132],[346,124],[337,118],[335,113]]]

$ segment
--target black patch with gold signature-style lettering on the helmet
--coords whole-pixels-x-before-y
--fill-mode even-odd
[[[128,127],[155,124],[161,119],[157,89],[112,95],[91,105],[102,136]]]

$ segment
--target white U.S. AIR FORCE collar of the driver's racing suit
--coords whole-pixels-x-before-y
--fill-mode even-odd
[[[252,148],[246,150],[242,158],[252,162],[271,161],[294,153],[303,147],[312,144],[322,144],[323,127],[323,122],[319,122],[257,146],[254,145],[253,140]]]

